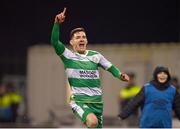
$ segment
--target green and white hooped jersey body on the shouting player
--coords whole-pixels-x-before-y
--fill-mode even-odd
[[[79,54],[65,48],[60,55],[75,101],[102,102],[98,67],[108,69],[112,64],[100,53],[87,50]]]

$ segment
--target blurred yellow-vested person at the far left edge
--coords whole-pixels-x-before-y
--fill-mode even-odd
[[[4,84],[0,84],[0,123],[12,121],[11,99]]]

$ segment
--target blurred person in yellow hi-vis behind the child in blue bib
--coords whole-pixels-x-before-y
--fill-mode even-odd
[[[139,91],[140,86],[138,86],[135,82],[135,74],[128,73],[130,80],[123,89],[119,92],[119,112],[125,107],[125,105],[131,100]],[[126,121],[125,126],[127,127],[137,127],[138,126],[138,109],[131,115]]]

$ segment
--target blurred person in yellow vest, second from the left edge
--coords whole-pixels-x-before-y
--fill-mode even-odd
[[[22,103],[22,97],[17,92],[12,82],[8,82],[6,86],[7,86],[7,95],[11,99],[11,110],[12,110],[11,122],[16,122],[17,117],[18,117],[18,108],[19,108],[19,105]]]

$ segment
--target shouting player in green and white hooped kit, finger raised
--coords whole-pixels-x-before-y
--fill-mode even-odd
[[[102,67],[122,81],[129,81],[129,76],[121,73],[99,52],[86,49],[88,40],[84,28],[71,31],[70,44],[73,51],[66,48],[59,41],[59,28],[65,20],[65,13],[66,8],[55,17],[51,43],[65,66],[72,90],[70,106],[87,127],[102,128],[103,102],[98,68]]]

